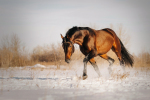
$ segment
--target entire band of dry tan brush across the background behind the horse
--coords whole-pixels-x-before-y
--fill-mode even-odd
[[[96,25],[90,27],[100,29]],[[114,27],[111,24],[109,27],[115,30],[128,49],[130,46],[130,37],[127,35],[126,29],[122,25]],[[115,64],[119,64],[114,52],[110,50],[107,54],[115,60]],[[142,51],[139,55],[133,54],[133,56],[135,61],[134,67],[150,66],[150,53],[148,51]],[[61,43],[37,46],[33,49],[32,53],[28,53],[16,34],[13,34],[11,37],[2,37],[0,41],[0,67],[27,66],[39,63],[42,65],[56,65],[57,69],[59,69],[60,65],[67,65],[64,59],[65,55]],[[72,61],[82,61],[83,59],[84,55],[80,52],[78,45],[75,45],[75,53],[72,55]],[[108,64],[106,60],[100,57],[96,57],[95,59],[99,64]]]

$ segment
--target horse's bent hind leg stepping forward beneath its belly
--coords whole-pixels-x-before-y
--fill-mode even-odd
[[[109,74],[111,74],[111,72],[112,72],[111,66],[113,65],[115,60],[112,59],[111,57],[107,56],[107,54],[103,54],[103,55],[99,55],[99,56],[102,57],[103,59],[106,59],[109,62],[108,71],[109,71]]]

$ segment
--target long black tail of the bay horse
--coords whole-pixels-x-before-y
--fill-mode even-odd
[[[119,39],[120,40],[120,39]],[[133,66],[134,60],[133,56],[128,52],[128,50],[124,47],[123,43],[120,40],[121,44],[121,55],[122,55],[122,64],[125,64],[125,66]]]

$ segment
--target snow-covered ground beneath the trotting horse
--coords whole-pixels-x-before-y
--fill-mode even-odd
[[[150,100],[150,70],[99,66],[102,77],[88,65],[82,80],[83,64],[0,69],[0,100]]]

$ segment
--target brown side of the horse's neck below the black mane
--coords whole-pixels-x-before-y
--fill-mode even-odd
[[[80,30],[72,36],[72,41],[80,46],[82,46],[84,37],[88,34],[87,30]]]

